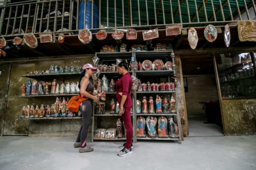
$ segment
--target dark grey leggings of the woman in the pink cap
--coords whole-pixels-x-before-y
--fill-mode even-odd
[[[90,125],[90,120],[92,118],[92,105],[86,104],[79,107],[79,111],[82,113],[83,125],[81,126],[77,141],[81,143],[81,148],[86,147],[86,137]]]

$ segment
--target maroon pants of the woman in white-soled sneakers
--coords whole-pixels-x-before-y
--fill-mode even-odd
[[[118,103],[121,102],[121,98],[122,98],[122,96],[117,95]],[[127,99],[124,102],[124,113],[122,114],[122,119],[124,121],[124,126],[126,128],[126,145],[125,145],[125,148],[127,148],[127,149],[131,148],[132,136],[133,136],[131,108],[132,108],[132,98],[131,98],[131,96],[127,96]]]

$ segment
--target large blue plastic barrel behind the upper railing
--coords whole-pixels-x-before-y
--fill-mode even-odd
[[[83,17],[85,12],[85,1],[79,3],[79,15],[78,15],[78,29],[91,29],[92,28],[92,1],[86,1],[86,13],[85,13],[85,28],[83,27]],[[99,8],[93,4],[93,28],[99,28]],[[97,30],[92,30],[92,33],[97,33]]]

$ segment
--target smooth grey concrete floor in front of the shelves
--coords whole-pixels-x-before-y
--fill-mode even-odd
[[[1,170],[256,170],[256,135],[186,137],[176,142],[138,142],[117,156],[122,142],[88,143],[79,153],[74,137],[0,137]]]

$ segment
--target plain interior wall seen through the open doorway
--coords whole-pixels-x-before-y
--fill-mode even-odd
[[[185,92],[188,117],[206,117],[201,101],[218,100],[214,75],[183,75],[187,78],[188,92]]]

